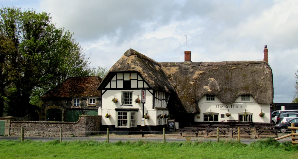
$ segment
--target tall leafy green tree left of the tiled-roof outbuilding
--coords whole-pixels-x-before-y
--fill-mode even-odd
[[[90,73],[89,58],[85,59],[81,46],[69,31],[56,28],[49,14],[22,12],[13,6],[1,8],[0,16],[0,33],[15,47],[9,58],[4,58],[7,75],[2,87],[7,89],[1,96],[8,115],[26,115],[32,95],[39,96],[38,92],[53,88],[73,72],[82,76]],[[72,73],[65,74],[64,65],[69,61],[77,65],[69,66]]]

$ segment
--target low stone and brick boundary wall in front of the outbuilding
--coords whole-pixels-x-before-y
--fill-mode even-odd
[[[21,136],[51,136],[59,137],[60,128],[63,137],[84,137],[100,131],[101,116],[80,116],[77,122],[56,121],[14,121],[13,117],[5,117],[5,135]]]

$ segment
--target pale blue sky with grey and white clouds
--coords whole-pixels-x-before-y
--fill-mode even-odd
[[[1,7],[50,13],[108,69],[134,49],[157,62],[263,60],[273,72],[275,103],[291,103],[298,70],[297,0],[0,0]],[[185,36],[186,35],[186,36]]]

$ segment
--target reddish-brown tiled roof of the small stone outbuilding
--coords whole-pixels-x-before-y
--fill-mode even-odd
[[[101,81],[98,76],[69,77],[41,98],[100,97],[101,91],[97,88]]]

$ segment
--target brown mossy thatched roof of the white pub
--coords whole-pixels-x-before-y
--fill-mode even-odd
[[[188,113],[199,111],[198,101],[206,94],[223,103],[233,103],[240,95],[251,95],[259,104],[273,102],[272,70],[263,61],[159,63],[129,49],[109,74],[121,71],[139,72],[151,88],[173,93],[178,99],[172,104],[181,103]]]

